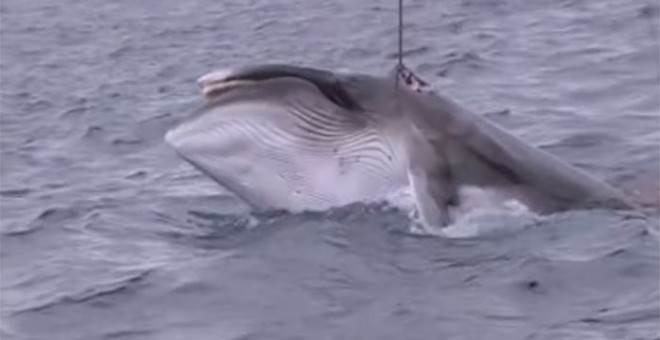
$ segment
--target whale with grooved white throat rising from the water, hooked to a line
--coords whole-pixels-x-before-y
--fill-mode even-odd
[[[475,190],[539,214],[636,208],[403,65],[382,76],[250,65],[198,83],[203,103],[165,141],[254,210],[325,210],[405,188],[435,233],[471,205]]]

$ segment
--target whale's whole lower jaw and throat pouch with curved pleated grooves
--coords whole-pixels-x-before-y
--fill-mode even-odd
[[[271,82],[279,91],[225,92],[170,130],[167,142],[258,209],[322,210],[405,185],[392,141],[364,115],[309,83]]]

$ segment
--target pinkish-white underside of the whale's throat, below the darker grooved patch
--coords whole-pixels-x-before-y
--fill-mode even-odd
[[[406,191],[399,150],[375,129],[338,130],[317,141],[305,136],[304,122],[296,122],[295,115],[276,110],[285,108],[259,102],[225,105],[222,112],[208,112],[169,131],[166,140],[259,209],[325,210]]]

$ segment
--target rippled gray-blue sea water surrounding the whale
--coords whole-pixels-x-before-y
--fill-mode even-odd
[[[2,0],[4,339],[658,339],[656,0],[405,0],[406,63],[644,215],[250,215],[165,131],[218,68],[384,74],[393,0]]]

